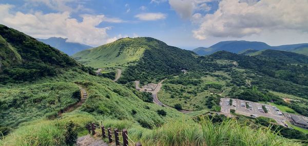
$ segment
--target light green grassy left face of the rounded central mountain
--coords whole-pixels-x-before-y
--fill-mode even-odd
[[[143,38],[122,38],[113,43],[78,52],[73,57],[94,68],[127,66],[127,62],[139,60],[144,50],[149,49],[144,42]]]

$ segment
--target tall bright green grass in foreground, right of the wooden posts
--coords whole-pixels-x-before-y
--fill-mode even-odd
[[[145,145],[302,145],[267,128],[255,130],[234,119],[221,123],[212,123],[208,118],[201,118],[199,123],[182,119],[142,135],[133,134],[137,132],[132,130],[129,135]]]

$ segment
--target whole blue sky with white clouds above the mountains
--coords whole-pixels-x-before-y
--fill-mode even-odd
[[[0,24],[100,46],[150,36],[183,49],[223,40],[308,43],[308,0],[1,0]]]

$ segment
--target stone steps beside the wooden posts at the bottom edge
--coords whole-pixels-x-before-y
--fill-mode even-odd
[[[76,141],[78,146],[108,146],[102,139],[94,139],[90,135],[79,137]]]

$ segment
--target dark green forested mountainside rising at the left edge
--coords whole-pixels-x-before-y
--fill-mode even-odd
[[[84,68],[67,54],[0,25],[0,83],[32,81],[61,70]]]

